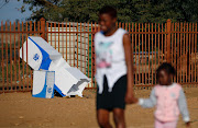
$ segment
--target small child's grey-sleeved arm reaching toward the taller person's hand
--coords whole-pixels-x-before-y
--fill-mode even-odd
[[[150,94],[150,98],[139,98],[139,104],[144,108],[150,108],[156,105],[155,88]]]

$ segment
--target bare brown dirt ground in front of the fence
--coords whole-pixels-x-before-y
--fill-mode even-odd
[[[191,118],[191,128],[198,128],[198,88],[185,89]],[[150,90],[136,90],[138,97],[148,97]],[[69,127],[98,128],[96,120],[96,91],[84,91],[85,97],[32,97],[31,93],[0,94],[0,127]],[[153,128],[154,108],[128,105],[128,128]],[[111,115],[112,117],[112,115]],[[112,118],[111,118],[112,123]],[[179,118],[178,128],[185,128]]]

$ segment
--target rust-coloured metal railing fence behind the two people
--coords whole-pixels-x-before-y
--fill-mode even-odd
[[[198,84],[197,23],[117,23],[131,35],[135,67],[135,86],[157,83],[155,70],[164,61],[177,70],[174,81],[183,85]],[[32,90],[32,69],[19,57],[28,36],[41,36],[65,60],[91,79],[87,88],[97,86],[95,80],[94,37],[100,31],[97,23],[1,22],[0,27],[0,92]]]

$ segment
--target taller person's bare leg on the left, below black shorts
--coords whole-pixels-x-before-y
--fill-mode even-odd
[[[112,128],[109,123],[109,112],[107,109],[97,110],[97,120],[100,128]]]

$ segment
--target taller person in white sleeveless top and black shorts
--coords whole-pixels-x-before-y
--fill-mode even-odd
[[[99,11],[101,32],[95,36],[97,119],[101,128],[111,128],[109,113],[113,112],[117,128],[124,128],[125,103],[135,102],[133,96],[132,47],[127,31],[116,27],[117,11],[105,7]]]

